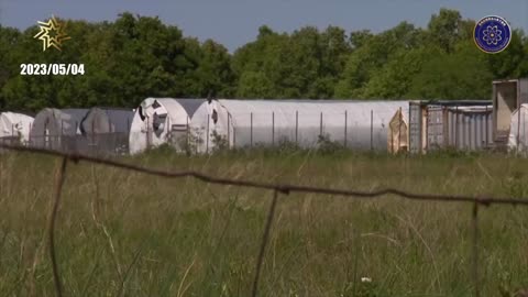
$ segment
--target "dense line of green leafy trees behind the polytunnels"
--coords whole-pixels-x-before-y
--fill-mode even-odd
[[[528,38],[516,29],[508,48],[486,54],[473,42],[474,25],[449,9],[425,29],[402,22],[377,34],[263,25],[232,54],[132,13],[114,22],[67,20],[72,40],[62,52],[42,52],[36,25],[0,25],[0,109],[135,107],[146,97],[487,99],[493,79],[528,75]],[[81,63],[85,75],[21,76],[23,63]]]

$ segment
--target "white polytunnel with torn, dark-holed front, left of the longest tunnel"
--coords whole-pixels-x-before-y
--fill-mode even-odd
[[[187,127],[204,99],[146,98],[135,110],[130,128],[129,148],[138,154],[170,143],[176,150],[187,135]]]

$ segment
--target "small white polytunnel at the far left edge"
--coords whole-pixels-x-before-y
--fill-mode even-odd
[[[0,141],[8,139],[25,144],[30,141],[31,125],[33,118],[22,113],[1,112],[0,113]]]

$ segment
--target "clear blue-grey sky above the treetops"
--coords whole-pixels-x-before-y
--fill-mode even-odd
[[[212,38],[233,52],[255,40],[264,24],[278,32],[337,25],[377,33],[402,21],[424,28],[440,8],[455,9],[464,19],[499,15],[528,32],[528,0],[0,0],[0,24],[23,30],[52,14],[113,21],[129,11],[157,15],[186,36]]]

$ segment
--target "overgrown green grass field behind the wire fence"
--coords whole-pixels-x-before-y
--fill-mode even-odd
[[[124,160],[272,183],[528,196],[528,160],[501,155],[158,151]],[[55,296],[46,230],[58,165],[0,155],[2,296]],[[65,296],[249,296],[271,198],[69,163],[56,228]],[[280,195],[260,296],[471,296],[471,211],[393,196]],[[528,208],[483,208],[480,228],[482,296],[528,287]]]

